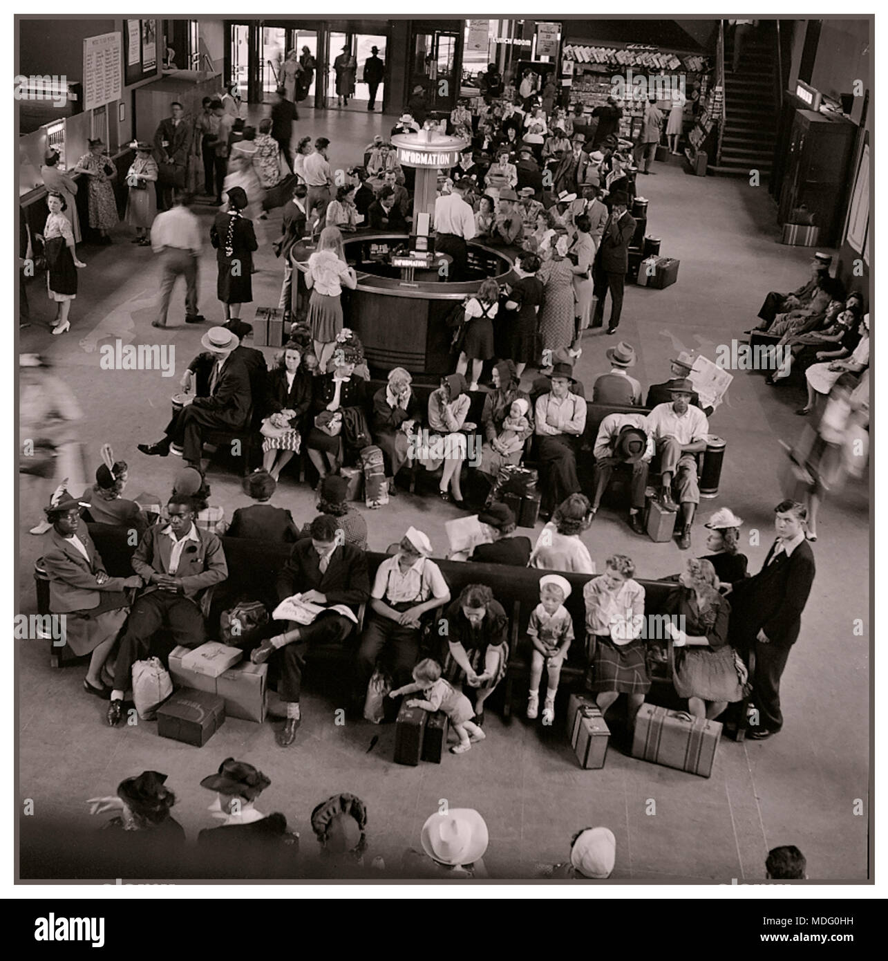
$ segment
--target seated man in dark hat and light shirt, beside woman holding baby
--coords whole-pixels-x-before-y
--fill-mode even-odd
[[[543,467],[540,517],[548,520],[555,507],[580,492],[577,450],[586,428],[586,402],[570,389],[574,369],[556,363],[551,388],[536,400],[537,453]]]

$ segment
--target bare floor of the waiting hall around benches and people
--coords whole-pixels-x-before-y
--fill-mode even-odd
[[[333,144],[333,166],[359,160],[361,148],[394,118],[352,111],[314,114],[300,123],[312,136]],[[766,188],[741,181],[696,178],[678,162],[655,164],[656,177],[639,178],[650,198],[649,234],[662,238],[662,253],[681,261],[678,283],[666,290],[629,287],[621,336],[635,346],[634,373],[643,384],[667,375],[668,359],[682,346],[714,357],[725,343],[750,326],[764,293],[801,283],[809,252],[777,244],[774,204]],[[212,209],[202,209],[208,227]],[[277,234],[277,214],[267,225]],[[82,250],[88,264],[80,275],[81,294],[72,311],[71,332],[51,337],[50,308],[37,284],[30,288],[35,325],[23,332],[22,350],[46,353],[86,411],[83,437],[89,471],[99,463],[99,446],[111,441],[116,456],[130,463],[131,491],[166,491],[174,465],[136,453],[136,442],[160,433],[169,397],[181,371],[198,351],[200,331],[179,327],[166,334],[177,347],[177,376],[151,372],[100,371],[94,341],[135,335],[161,342],[150,327],[158,267],[150,251],[131,245],[121,230],[110,248]],[[275,305],[280,264],[264,246],[254,277],[255,304]],[[201,274],[201,306],[220,322],[214,297],[210,248]],[[173,322],[182,320],[177,291]],[[249,320],[252,309],[244,310]],[[87,336],[95,331],[92,342]],[[83,343],[81,343],[83,341]],[[578,376],[588,385],[603,371],[612,339],[587,335]],[[271,355],[266,350],[267,355]],[[780,499],[778,438],[793,440],[803,421],[793,416],[801,397],[795,388],[769,390],[760,375],[738,372],[727,404],[712,418],[712,429],[728,439],[720,497],[704,502],[702,513],[731,506],[746,521],[744,535],[758,531],[745,548],[757,571],[773,536],[772,508]],[[284,476],[285,478],[285,476]],[[231,512],[243,503],[238,479],[210,476],[213,501]],[[308,488],[284,480],[276,501],[300,521],[313,509]],[[19,518],[20,609],[35,609],[32,565],[40,554],[27,534],[38,505],[22,505]],[[443,552],[443,523],[456,508],[437,500],[402,496],[380,511],[366,511],[370,546],[383,550],[409,524],[426,530]],[[426,817],[446,799],[474,806],[490,831],[485,858],[492,875],[532,876],[538,862],[564,860],[574,832],[607,825],[617,838],[614,878],[641,881],[718,881],[764,876],[767,850],[796,844],[807,856],[808,875],[822,879],[867,876],[869,783],[869,635],[855,636],[851,622],[868,625],[868,491],[852,484],[828,501],[815,547],[818,574],[803,618],[802,637],[783,678],[786,725],[771,741],[737,745],[724,740],[711,778],[682,774],[636,761],[611,749],[601,771],[581,771],[562,733],[561,719],[544,730],[520,718],[505,726],[487,722],[488,739],[440,766],[396,766],[393,729],[367,724],[336,727],[339,706],[309,692],[297,744],[278,749],[269,725],[228,720],[202,750],[160,740],[153,724],[110,730],[102,706],[80,689],[78,669],[53,671],[43,645],[18,642],[20,792],[35,799],[43,817],[70,818],[88,825],[84,800],[111,793],[124,776],[143,769],[165,772],[179,796],[176,816],[189,836],[210,825],[210,795],[198,786],[226,756],[252,761],[272,779],[260,806],[283,811],[310,842],[308,814],[315,803],[338,791],[352,791],[369,809],[371,854],[395,866],[415,846]],[[703,528],[694,531],[703,550]],[[675,544],[635,537],[621,519],[606,512],[584,534],[600,568],[614,551],[632,554],[642,577],[679,569],[684,554]],[[310,681],[309,681],[310,687]],[[374,734],[380,740],[369,753]],[[864,815],[854,813],[860,799]],[[652,806],[651,801],[654,802]],[[655,813],[649,813],[653,812]]]

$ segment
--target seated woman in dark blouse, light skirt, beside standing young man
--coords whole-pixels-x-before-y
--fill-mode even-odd
[[[666,630],[673,644],[686,649],[676,653],[676,693],[688,699],[694,717],[709,720],[728,703],[742,701],[749,681],[743,661],[728,644],[730,604],[719,594],[718,582],[708,560],[688,557],[679,586],[662,611],[672,616]]]

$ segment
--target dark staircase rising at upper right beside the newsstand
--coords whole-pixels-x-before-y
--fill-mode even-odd
[[[777,141],[777,36],[773,22],[759,21],[747,34],[737,73],[733,62],[733,31],[725,50],[725,131],[722,153],[711,173],[749,177],[758,170],[764,182],[771,175]]]

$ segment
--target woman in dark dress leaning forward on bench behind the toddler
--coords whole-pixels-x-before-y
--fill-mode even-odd
[[[485,584],[466,584],[444,613],[447,650],[441,677],[461,684],[475,709],[475,723],[484,723],[484,702],[506,677],[508,618]]]

